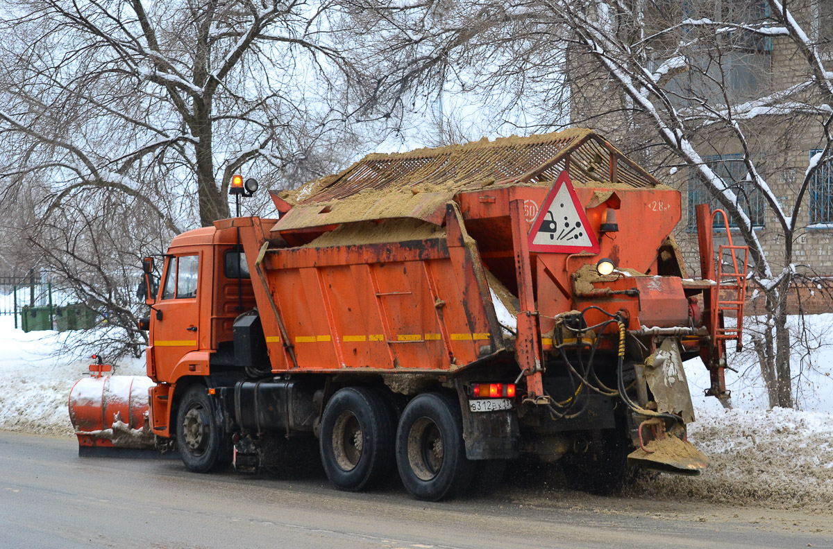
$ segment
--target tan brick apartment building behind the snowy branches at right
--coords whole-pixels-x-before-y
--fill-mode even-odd
[[[773,270],[785,264],[785,231],[776,210],[749,177],[746,159],[766,180],[781,209],[796,216],[792,259],[800,272],[819,275],[801,296],[813,309],[826,307],[826,277],[833,277],[833,153],[819,158],[826,145],[822,122],[833,97],[819,92],[806,55],[782,36],[766,0],[685,0],[636,2],[640,24],[616,19],[617,39],[632,44],[634,57],[655,75],[667,101],[690,128],[688,136],[703,163],[735,192],[754,234],[768,251]],[[833,71],[833,0],[790,2],[796,21]],[[689,270],[696,272],[694,206],[718,200],[706,191],[699,171],[681,163],[658,137],[650,117],[611,82],[586,54],[569,57],[571,119],[608,136],[661,181],[681,190],[683,219],[676,238]],[[737,128],[718,120],[731,111]],[[825,114],[827,112],[827,114]],[[830,127],[833,132],[833,125]],[[741,132],[744,140],[738,139]],[[744,142],[745,141],[745,142]],[[801,190],[812,158],[819,168]],[[721,224],[722,225],[722,224]],[[729,232],[742,240],[730,220]],[[726,230],[716,230],[726,241]],[[737,243],[737,242],[736,242]]]

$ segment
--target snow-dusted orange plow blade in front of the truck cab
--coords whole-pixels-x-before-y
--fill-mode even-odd
[[[147,418],[146,376],[105,375],[107,365],[92,365],[69,393],[69,418],[78,438],[78,455],[122,455],[155,450]],[[116,450],[117,452],[113,452]],[[128,451],[128,452],[125,452]]]

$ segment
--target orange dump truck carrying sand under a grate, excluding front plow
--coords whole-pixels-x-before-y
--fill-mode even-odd
[[[687,279],[680,193],[601,136],[371,155],[272,198],[278,219],[174,238],[148,297],[150,428],[188,468],[257,471],[316,437],[336,487],[398,470],[439,500],[523,455],[593,491],[706,467],[682,361],[728,397],[745,250],[712,250],[700,206]]]

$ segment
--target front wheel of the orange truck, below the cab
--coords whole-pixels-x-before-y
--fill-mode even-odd
[[[189,388],[182,395],[177,413],[177,448],[185,467],[193,472],[209,472],[222,464],[221,438],[206,388]]]

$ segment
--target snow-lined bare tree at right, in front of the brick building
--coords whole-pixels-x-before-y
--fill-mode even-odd
[[[815,276],[796,242],[831,164],[831,2],[355,1],[391,116],[451,82],[492,101],[500,123],[524,106],[520,131],[595,126],[671,168],[692,203],[699,189],[721,205],[765,301],[752,335],[770,404],[794,405],[787,299]]]

